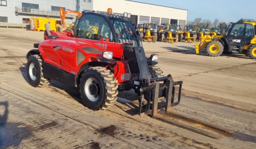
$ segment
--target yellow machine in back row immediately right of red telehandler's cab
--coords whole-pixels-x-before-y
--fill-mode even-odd
[[[155,23],[144,23],[139,25],[141,41],[157,42],[158,26]]]

